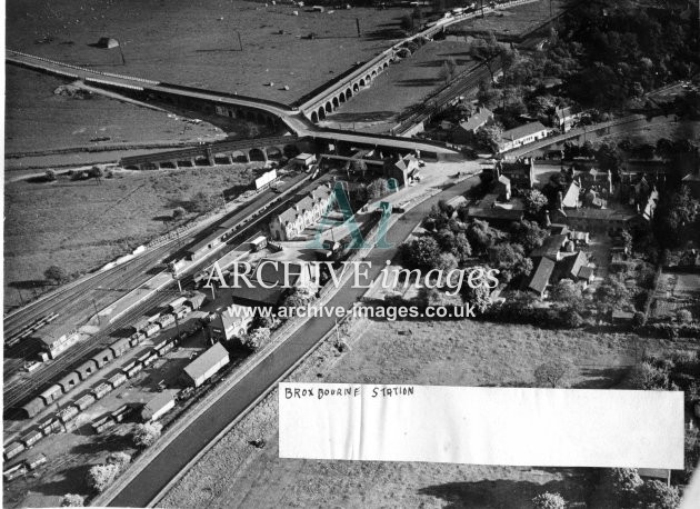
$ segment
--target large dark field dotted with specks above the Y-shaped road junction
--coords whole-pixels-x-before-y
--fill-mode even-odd
[[[8,6],[8,48],[101,71],[291,102],[386,49],[401,37],[398,22],[408,12],[309,10],[238,0],[31,0]],[[317,39],[303,39],[312,32]],[[100,37],[121,42],[126,64],[119,49],[90,46]],[[270,81],[276,87],[268,87]],[[284,84],[289,91],[281,90]]]

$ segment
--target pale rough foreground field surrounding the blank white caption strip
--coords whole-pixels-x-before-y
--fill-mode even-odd
[[[338,353],[327,342],[290,379],[527,386],[537,366],[566,359],[576,366],[569,379],[572,387],[608,388],[641,353],[637,338],[626,335],[572,335],[472,321],[360,321],[354,327],[356,339],[348,340],[347,353]],[[260,437],[268,441],[263,450],[249,445]],[[273,392],[208,451],[159,506],[511,508],[529,507],[528,501],[546,490],[583,502],[591,486],[586,469],[280,460]]]

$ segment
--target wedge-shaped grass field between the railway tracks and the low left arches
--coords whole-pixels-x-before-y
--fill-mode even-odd
[[[221,192],[252,180],[242,164],[151,172],[112,179],[6,181],[4,303],[19,303],[44,285],[51,265],[81,272],[164,233],[172,210],[198,191]],[[36,290],[34,290],[36,289]]]

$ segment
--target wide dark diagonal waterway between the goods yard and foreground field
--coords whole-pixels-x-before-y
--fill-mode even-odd
[[[439,200],[453,198],[476,186],[479,179],[472,178],[442,191],[409,210],[389,230],[391,249],[373,248],[367,261],[370,261],[369,275],[374,279],[384,267],[384,260],[396,255],[396,247],[408,238],[418,223],[428,214]],[[352,288],[352,279],[341,287],[327,303],[328,307],[341,306],[346,309],[364,293],[364,288]],[[268,387],[274,383],[294,362],[310,350],[334,326],[334,318],[314,318],[287,339],[277,350],[268,356],[256,369],[241,379],[213,406],[204,410],[197,420],[168,445],[120,493],[110,502],[110,507],[146,507],[168,482],[227,425],[250,406]]]

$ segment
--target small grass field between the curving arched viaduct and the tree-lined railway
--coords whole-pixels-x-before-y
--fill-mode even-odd
[[[449,58],[457,62],[457,72],[474,63],[466,42],[430,42],[379,74],[370,90],[341,104],[326,124],[350,129],[361,124],[363,130],[388,131],[400,112],[444,84],[439,73]]]

